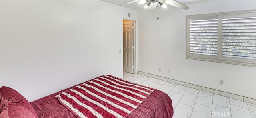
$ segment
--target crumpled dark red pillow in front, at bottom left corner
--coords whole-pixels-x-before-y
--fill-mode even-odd
[[[37,118],[37,116],[19,104],[8,102],[0,113],[0,118]]]

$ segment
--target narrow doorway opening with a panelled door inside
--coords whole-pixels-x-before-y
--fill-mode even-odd
[[[123,19],[123,71],[135,72],[135,21]]]

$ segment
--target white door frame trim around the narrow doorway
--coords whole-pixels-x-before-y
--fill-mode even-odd
[[[123,53],[123,20],[131,20],[134,22],[134,28],[133,28],[133,46],[134,46],[134,49],[133,49],[133,73],[134,74],[137,74],[137,39],[138,39],[138,23],[137,23],[137,20],[136,19],[132,19],[132,18],[127,18],[127,17],[123,17],[122,18],[122,28],[121,28],[121,34],[122,34],[122,43],[121,43],[121,46],[122,46],[122,78],[124,78],[124,53]]]

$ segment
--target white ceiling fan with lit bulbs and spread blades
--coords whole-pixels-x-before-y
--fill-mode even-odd
[[[145,9],[149,9],[149,10],[154,10],[156,8],[156,6],[158,6],[158,4],[160,6],[162,6],[163,8],[167,8],[166,4],[169,4],[171,6],[174,6],[176,8],[181,8],[181,9],[188,9],[188,6],[186,6],[185,4],[182,4],[180,2],[177,2],[175,0],[133,0],[124,4],[121,4],[120,6],[126,5],[126,4],[131,4],[134,2],[139,2],[139,4],[145,4],[144,8]]]

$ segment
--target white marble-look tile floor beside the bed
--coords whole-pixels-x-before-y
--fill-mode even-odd
[[[124,79],[156,88],[172,99],[173,118],[256,118],[256,104],[124,72]]]

